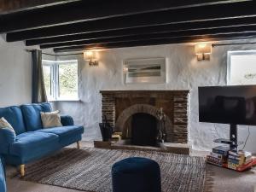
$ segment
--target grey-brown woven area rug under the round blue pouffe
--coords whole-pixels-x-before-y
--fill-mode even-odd
[[[22,179],[36,183],[93,192],[111,192],[111,167],[127,157],[146,157],[160,165],[163,192],[203,192],[212,190],[205,160],[183,154],[64,148],[26,166]]]

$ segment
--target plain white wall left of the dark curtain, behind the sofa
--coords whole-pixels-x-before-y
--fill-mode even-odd
[[[32,59],[25,49],[0,36],[0,107],[31,102]]]

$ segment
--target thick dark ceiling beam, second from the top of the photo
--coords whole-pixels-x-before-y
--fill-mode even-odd
[[[184,24],[196,21],[254,17],[256,16],[255,7],[256,2],[254,1],[222,5],[218,4],[203,8],[195,7],[190,9],[167,10],[156,12],[154,14],[146,13],[102,20],[90,20],[87,22],[51,26],[23,32],[11,32],[7,34],[7,41],[12,42],[33,38],[49,38],[65,36],[71,33],[78,34],[80,32],[103,32],[141,26],[159,26],[166,24]]]

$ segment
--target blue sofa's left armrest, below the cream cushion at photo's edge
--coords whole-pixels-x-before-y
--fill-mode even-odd
[[[9,154],[9,145],[15,143],[15,132],[6,128],[0,129],[0,154]]]

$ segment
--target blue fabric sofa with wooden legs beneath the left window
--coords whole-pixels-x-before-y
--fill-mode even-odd
[[[74,125],[70,116],[61,116],[62,127],[43,129],[40,112],[50,112],[49,103],[28,104],[0,108],[0,118],[7,119],[15,129],[0,129],[0,155],[7,164],[20,166],[25,175],[25,164],[38,160],[82,139],[83,126]]]

